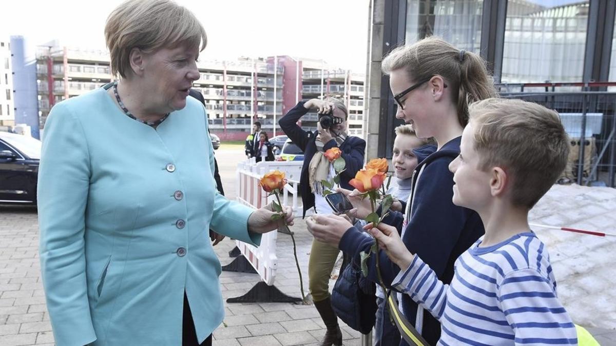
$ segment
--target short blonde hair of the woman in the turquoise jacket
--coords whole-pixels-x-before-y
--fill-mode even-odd
[[[105,25],[111,73],[123,78],[131,73],[131,50],[153,53],[180,45],[205,49],[203,25],[185,7],[170,0],[128,0],[116,7]]]

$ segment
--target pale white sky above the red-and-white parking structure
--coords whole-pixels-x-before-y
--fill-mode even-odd
[[[121,0],[2,1],[0,36],[105,49],[107,15]],[[368,0],[177,0],[208,33],[202,59],[292,55],[364,73]]]

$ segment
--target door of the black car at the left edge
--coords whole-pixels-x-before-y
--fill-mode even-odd
[[[26,160],[14,148],[0,140],[0,151],[9,150],[14,153],[16,159],[0,158],[0,203],[10,202],[31,202],[34,194],[29,191],[30,167]]]

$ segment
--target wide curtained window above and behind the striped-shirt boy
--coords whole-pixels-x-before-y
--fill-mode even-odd
[[[509,1],[502,82],[580,82],[589,1]]]

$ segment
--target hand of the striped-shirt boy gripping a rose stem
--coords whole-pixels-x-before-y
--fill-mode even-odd
[[[407,270],[415,255],[408,251],[395,227],[381,222],[375,228],[370,222],[363,228],[379,241],[381,250],[385,251],[387,256],[400,267],[400,270]]]

